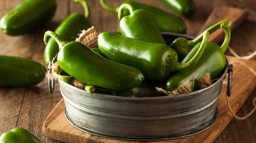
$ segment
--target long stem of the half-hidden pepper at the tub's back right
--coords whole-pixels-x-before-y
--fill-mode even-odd
[[[209,27],[208,29],[206,29],[209,34],[212,34],[214,31],[218,30],[221,26],[222,23],[225,23],[225,24],[229,24],[229,21],[228,20],[223,20],[221,22],[218,22],[214,25],[212,25],[211,27]],[[204,32],[203,32],[204,33]],[[188,45],[191,45],[191,46],[195,46],[197,43],[201,42],[202,39],[203,39],[203,33],[200,34],[197,38],[193,39],[193,40],[189,40],[188,41]]]

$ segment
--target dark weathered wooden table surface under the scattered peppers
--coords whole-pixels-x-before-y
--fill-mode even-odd
[[[14,8],[24,0],[1,0],[0,17]],[[122,0],[123,1],[123,0]],[[119,6],[122,1],[106,0],[112,6]],[[142,0],[138,0],[142,1]],[[241,0],[242,1],[242,0]],[[247,56],[256,50],[256,4],[247,7],[239,0],[214,0],[201,1],[194,0],[197,11],[190,18],[182,19],[187,25],[186,34],[196,36],[216,6],[232,6],[245,9],[248,12],[247,20],[231,32],[230,47],[239,55]],[[172,12],[160,0],[142,1],[155,7]],[[55,28],[71,13],[84,13],[80,4],[73,0],[56,0],[57,9],[53,19],[40,27],[37,31],[22,36],[7,36],[0,32],[0,55],[19,56],[29,58],[42,63],[44,62],[44,41],[43,36],[47,30],[54,31]],[[96,27],[97,32],[116,32],[118,28],[117,15],[103,9],[99,1],[87,0],[90,7],[90,22]],[[172,12],[173,13],[173,12]],[[226,55],[232,55],[230,52]],[[256,59],[253,57],[252,59]],[[1,63],[0,63],[1,64]],[[0,69],[1,70],[1,69]],[[4,76],[4,75],[2,75]],[[253,90],[237,115],[244,116],[252,109],[252,99],[256,96],[256,89]],[[0,135],[10,131],[15,127],[22,127],[29,130],[45,143],[59,143],[59,141],[49,139],[42,133],[42,126],[56,104],[62,99],[58,83],[55,84],[55,91],[50,94],[48,81],[45,78],[41,83],[32,87],[0,87]],[[225,130],[217,137],[215,143],[227,142],[256,142],[256,112],[245,120],[232,119]]]

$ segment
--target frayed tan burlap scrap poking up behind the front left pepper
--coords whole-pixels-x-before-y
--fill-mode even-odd
[[[98,48],[98,34],[94,26],[87,30],[83,30],[82,33],[78,34],[79,38],[76,38],[75,41],[78,41],[88,48]]]

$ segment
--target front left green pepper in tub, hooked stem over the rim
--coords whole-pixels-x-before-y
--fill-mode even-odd
[[[138,69],[106,59],[80,42],[68,43],[52,31],[45,33],[45,44],[49,36],[59,45],[57,62],[60,67],[82,83],[110,90],[129,90],[144,80]]]

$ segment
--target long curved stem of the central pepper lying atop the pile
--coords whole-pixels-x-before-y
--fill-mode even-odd
[[[207,30],[205,30],[203,32],[202,43],[201,43],[200,48],[198,49],[197,53],[195,54],[195,56],[186,63],[179,63],[178,61],[171,59],[171,64],[170,64],[170,67],[168,67],[168,69],[170,71],[182,71],[182,70],[186,70],[186,69],[189,69],[190,67],[194,66],[198,62],[198,60],[201,58],[203,51],[206,47],[206,44],[208,42],[208,39],[209,39],[209,32]]]

